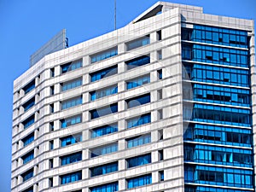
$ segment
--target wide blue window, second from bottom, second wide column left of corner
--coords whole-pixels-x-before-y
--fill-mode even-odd
[[[90,168],[90,177],[104,175],[110,172],[117,172],[119,169],[118,162],[109,163],[103,166],[95,166]]]

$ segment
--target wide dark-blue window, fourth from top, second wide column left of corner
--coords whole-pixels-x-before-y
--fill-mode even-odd
[[[103,108],[96,108],[90,111],[90,119],[96,119],[111,113],[118,112],[118,103],[113,103],[110,106]]]

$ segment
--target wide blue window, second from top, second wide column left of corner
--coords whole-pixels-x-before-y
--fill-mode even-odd
[[[90,73],[90,82],[94,82],[103,78],[108,78],[114,74],[118,73],[118,67],[113,66],[113,67],[108,67],[108,68],[104,68],[100,71],[97,71],[95,73]]]

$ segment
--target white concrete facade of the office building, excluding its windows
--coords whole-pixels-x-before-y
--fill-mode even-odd
[[[198,7],[159,2],[151,9],[162,6],[162,13],[145,20],[139,20],[147,11],[129,25],[114,32],[90,39],[73,47],[57,51],[38,61],[26,73],[15,79],[13,104],[13,139],[12,139],[12,192],[23,192],[33,188],[34,192],[72,192],[81,189],[90,192],[90,188],[104,183],[119,183],[119,191],[132,192],[171,192],[183,191],[183,98],[182,98],[182,58],[181,58],[181,27],[201,25],[233,27],[252,31],[252,20],[241,20],[206,15]],[[151,9],[148,9],[150,11]],[[137,21],[139,20],[139,21]],[[161,31],[159,40],[158,32]],[[253,37],[254,32],[252,32]],[[150,44],[137,49],[126,50],[126,43],[149,35]],[[254,38],[251,39],[251,51],[254,53]],[[90,55],[118,46],[118,55],[95,63],[90,62]],[[158,51],[162,51],[162,60]],[[150,55],[150,63],[143,67],[127,70],[125,61],[140,55]],[[82,67],[61,74],[61,65],[70,61],[82,61]],[[106,67],[118,65],[118,73],[90,82],[90,73]],[[255,67],[254,55],[251,56],[251,67]],[[55,76],[51,77],[51,69]],[[163,79],[158,78],[162,70]],[[255,70],[255,69],[254,69]],[[254,77],[254,70],[252,74]],[[150,83],[126,90],[125,82],[139,76],[150,75]],[[72,79],[83,79],[83,84],[75,89],[61,91],[61,84]],[[27,94],[24,86],[35,79],[35,89]],[[100,90],[109,85],[117,84],[118,93],[105,96],[96,101],[90,101],[90,91]],[[51,87],[54,86],[54,95]],[[253,84],[253,100],[255,97]],[[158,96],[162,90],[162,98]],[[151,101],[143,106],[127,108],[126,99],[150,93]],[[83,103],[74,108],[61,110],[61,102],[75,96],[82,96]],[[35,105],[24,112],[24,103],[35,97]],[[102,108],[112,103],[118,103],[118,113],[108,114],[98,119],[90,119],[90,111]],[[255,102],[253,102],[255,103]],[[49,105],[53,104],[54,113]],[[162,109],[163,118],[158,112]],[[255,106],[253,106],[253,112]],[[144,113],[151,113],[151,123],[127,129],[126,119]],[[254,112],[255,113],[255,112]],[[253,113],[253,119],[255,114]],[[24,129],[22,122],[35,115],[35,122]],[[61,129],[61,119],[75,114],[82,115],[82,122]],[[90,131],[101,125],[111,125],[118,122],[119,131],[102,137],[90,138]],[[255,121],[253,121],[255,122]],[[54,131],[50,131],[50,123]],[[254,125],[255,126],[255,125]],[[254,129],[255,130],[255,129]],[[34,132],[34,141],[23,147],[23,138]],[[62,137],[82,134],[82,141],[61,147]],[[151,143],[135,148],[127,148],[125,139],[144,134],[151,134]],[[160,135],[163,134],[163,139]],[[255,138],[254,138],[255,139]],[[53,142],[50,149],[49,142]],[[90,158],[90,149],[108,143],[118,143],[118,151],[99,157]],[[21,157],[34,150],[34,158],[23,165]],[[160,160],[159,151],[163,150],[164,160]],[[60,157],[74,152],[82,152],[79,162],[61,166]],[[144,166],[127,168],[126,159],[140,154],[151,153],[151,163]],[[53,167],[49,166],[52,160]],[[90,177],[90,168],[118,161],[119,171],[106,175]],[[34,168],[34,176],[23,182],[22,174]],[[82,172],[82,179],[74,183],[61,184],[60,176],[70,172]],[[164,171],[165,181],[160,181],[160,171]],[[127,189],[127,178],[152,174],[152,183],[134,189]],[[53,184],[50,186],[49,178]]]

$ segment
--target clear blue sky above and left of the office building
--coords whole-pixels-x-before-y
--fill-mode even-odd
[[[167,0],[168,1],[168,0]],[[256,20],[255,0],[169,0],[213,15]],[[117,0],[117,26],[125,26],[156,0]],[[0,0],[0,192],[10,191],[13,81],[29,67],[29,56],[67,29],[69,44],[113,30],[113,0]]]

